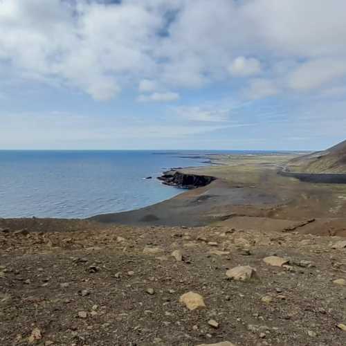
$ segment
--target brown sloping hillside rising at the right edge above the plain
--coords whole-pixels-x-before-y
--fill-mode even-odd
[[[346,140],[325,151],[293,158],[287,168],[291,172],[346,174]]]

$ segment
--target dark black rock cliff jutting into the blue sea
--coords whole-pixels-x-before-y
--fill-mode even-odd
[[[167,171],[162,176],[158,177],[163,184],[176,186],[176,188],[194,189],[206,186],[212,181],[215,181],[214,176],[185,174],[179,171]]]

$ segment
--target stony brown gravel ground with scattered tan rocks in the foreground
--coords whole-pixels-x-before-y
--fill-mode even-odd
[[[0,345],[346,345],[346,241],[0,230]]]

